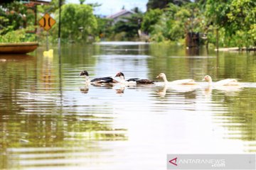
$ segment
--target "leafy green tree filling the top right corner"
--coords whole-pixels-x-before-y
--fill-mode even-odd
[[[220,30],[220,45],[256,45],[256,2],[252,0],[206,1],[209,26]]]

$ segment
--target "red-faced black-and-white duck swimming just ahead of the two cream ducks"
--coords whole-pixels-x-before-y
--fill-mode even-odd
[[[122,72],[117,73],[115,77],[119,77],[121,81],[119,82],[120,84],[124,85],[130,85],[134,86],[136,84],[154,84],[154,81],[151,81],[149,79],[139,79],[139,78],[133,78],[133,79],[124,79],[124,74]]]

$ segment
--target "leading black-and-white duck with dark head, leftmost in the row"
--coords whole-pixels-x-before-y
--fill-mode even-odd
[[[85,76],[85,84],[114,84],[119,83],[119,81],[116,81],[112,79],[112,77],[100,77],[95,78],[90,81],[90,77],[87,71],[80,72],[79,76]]]

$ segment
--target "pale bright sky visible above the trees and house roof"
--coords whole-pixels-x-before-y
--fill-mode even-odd
[[[127,10],[139,7],[140,11],[145,12],[146,3],[148,1],[149,0],[86,0],[85,4],[102,4],[102,6],[95,8],[94,13],[96,15],[109,16],[120,11],[123,6]],[[80,4],[79,0],[66,0],[66,2]]]

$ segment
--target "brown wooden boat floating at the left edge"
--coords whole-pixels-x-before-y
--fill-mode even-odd
[[[0,54],[26,54],[37,47],[38,42],[0,43]]]

